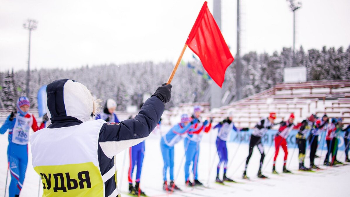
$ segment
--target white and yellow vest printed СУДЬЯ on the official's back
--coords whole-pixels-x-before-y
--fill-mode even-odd
[[[115,166],[101,175],[98,137],[104,120],[62,128],[44,128],[30,136],[33,167],[43,183],[43,196],[105,196],[104,182]],[[118,188],[110,195],[117,196]]]

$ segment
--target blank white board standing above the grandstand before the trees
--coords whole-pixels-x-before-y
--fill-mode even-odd
[[[306,67],[290,67],[283,69],[284,83],[306,82]]]

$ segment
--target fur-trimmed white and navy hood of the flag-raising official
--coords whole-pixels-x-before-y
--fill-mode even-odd
[[[77,119],[89,121],[98,109],[91,92],[81,83],[58,79],[46,88],[46,112],[51,121]]]

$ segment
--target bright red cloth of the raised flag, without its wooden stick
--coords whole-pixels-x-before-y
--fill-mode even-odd
[[[225,71],[234,58],[207,4],[205,1],[186,44],[201,59],[214,82],[222,87]]]

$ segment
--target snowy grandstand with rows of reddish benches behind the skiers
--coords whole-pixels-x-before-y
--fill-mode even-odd
[[[194,105],[203,106],[203,117],[213,117],[215,122],[223,120],[233,112],[237,127],[252,128],[269,112],[276,112],[280,122],[287,120],[290,113],[295,115],[295,123],[300,123],[311,114],[321,117],[343,118],[350,123],[350,79],[320,80],[303,83],[281,83],[250,97],[209,110],[209,103],[187,103],[165,111],[164,123],[170,124],[180,113],[192,113]],[[176,120],[175,120],[176,121]]]

